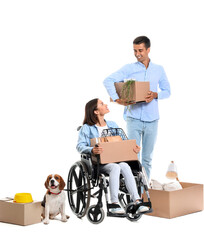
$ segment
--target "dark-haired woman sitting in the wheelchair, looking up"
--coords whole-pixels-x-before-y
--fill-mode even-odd
[[[83,126],[80,129],[77,144],[77,150],[80,153],[96,155],[103,152],[103,148],[100,147],[100,145],[98,147],[91,147],[90,139],[100,137],[104,129],[118,128],[115,122],[106,121],[104,119],[104,115],[107,113],[109,113],[107,104],[104,104],[98,98],[95,98],[86,104]],[[140,151],[140,147],[136,145],[133,150],[138,153]],[[109,210],[112,213],[124,213],[124,210],[118,204],[120,174],[122,174],[124,177],[127,190],[130,193],[132,200],[135,202],[135,204],[141,203],[134,176],[130,166],[127,163],[120,162],[103,165],[101,164],[100,171],[109,174],[109,186],[112,202]],[[138,212],[144,212],[148,210],[149,209],[147,207],[140,206]]]

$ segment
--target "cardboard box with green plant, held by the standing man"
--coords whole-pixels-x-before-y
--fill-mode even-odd
[[[122,88],[124,86],[124,82],[117,82],[115,84],[116,92],[120,99],[125,99],[122,95]],[[145,102],[145,97],[147,93],[150,91],[150,83],[149,82],[138,82],[135,81],[130,87],[130,95],[128,102],[131,103],[138,103],[138,102]]]

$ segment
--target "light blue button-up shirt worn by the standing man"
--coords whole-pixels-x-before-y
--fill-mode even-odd
[[[162,66],[149,62],[146,69],[141,62],[127,64],[117,72],[111,74],[104,80],[104,86],[115,101],[119,99],[116,93],[114,83],[124,82],[126,79],[134,79],[136,81],[149,81],[150,91],[158,93],[158,99],[153,99],[150,103],[136,103],[125,107],[124,118],[127,117],[139,119],[141,121],[152,122],[159,119],[158,100],[168,98],[171,94],[170,84]],[[158,88],[160,89],[158,91]]]

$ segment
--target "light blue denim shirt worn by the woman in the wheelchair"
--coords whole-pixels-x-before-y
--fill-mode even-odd
[[[118,125],[112,121],[106,121],[108,128],[118,128]],[[90,126],[84,124],[80,131],[78,137],[78,143],[76,149],[80,153],[91,154],[93,147],[91,147],[91,138],[99,137],[98,129],[95,125]]]

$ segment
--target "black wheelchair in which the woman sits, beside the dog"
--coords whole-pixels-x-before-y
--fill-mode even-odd
[[[121,136],[123,140],[127,140],[127,136],[121,128],[105,129],[102,132],[103,136]],[[152,205],[148,192],[149,184],[144,168],[138,160],[127,161],[130,165],[135,183],[138,188],[138,194],[141,195],[142,188],[147,195],[147,202],[135,205],[127,191],[125,181],[120,176],[119,188],[119,202],[124,209],[124,214],[116,214],[109,211],[111,204],[109,204],[108,194],[108,175],[103,174],[99,170],[100,156],[96,156],[96,163],[93,163],[93,156],[89,154],[81,154],[81,160],[75,162],[68,173],[67,178],[67,195],[68,202],[73,213],[82,218],[85,215],[93,224],[99,224],[104,220],[105,212],[103,210],[103,193],[105,194],[107,216],[108,217],[126,217],[128,220],[134,222],[139,220],[144,213],[152,212]],[[96,190],[94,190],[96,189]],[[92,193],[92,190],[95,191]],[[96,199],[94,205],[90,205],[91,198]],[[148,211],[137,213],[137,209],[141,206],[147,206]]]

